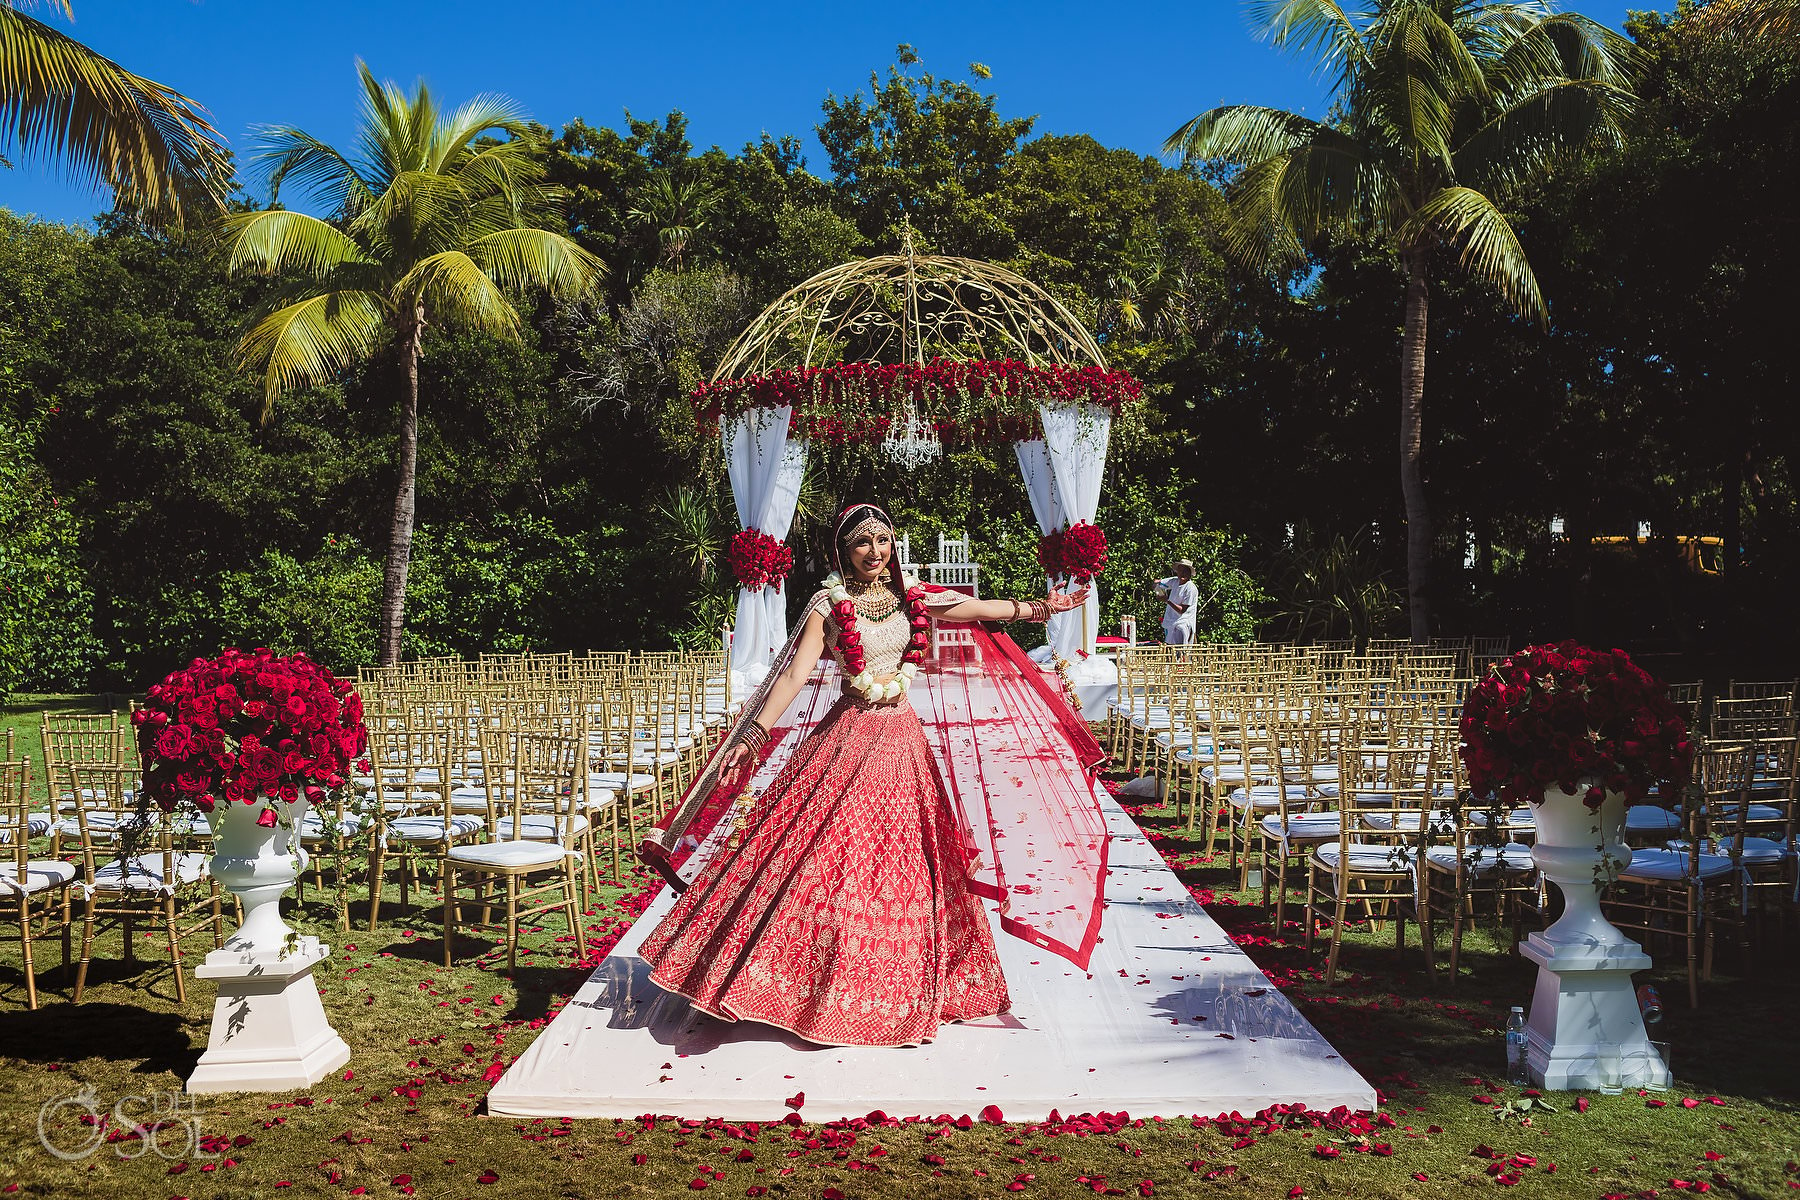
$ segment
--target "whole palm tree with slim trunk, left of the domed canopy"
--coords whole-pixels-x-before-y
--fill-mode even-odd
[[[281,290],[238,344],[263,372],[265,419],[281,392],[335,378],[394,351],[405,374],[400,488],[382,594],[382,662],[400,660],[412,560],[419,455],[419,349],[428,326],[517,338],[508,293],[578,297],[605,264],[563,234],[524,115],[479,95],[445,112],[423,83],[407,97],[356,63],[364,86],[353,160],[301,130],[263,131],[259,164],[270,203],[288,180],[331,207],[326,221],[270,207],[225,218],[229,270],[284,273]],[[508,140],[488,137],[504,133]]]

